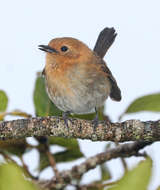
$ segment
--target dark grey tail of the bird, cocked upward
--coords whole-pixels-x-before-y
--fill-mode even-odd
[[[116,36],[117,33],[115,33],[114,28],[104,28],[98,36],[93,51],[96,52],[99,57],[103,58],[110,46],[113,44]]]

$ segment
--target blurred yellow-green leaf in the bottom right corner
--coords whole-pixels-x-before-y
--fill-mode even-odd
[[[118,183],[108,190],[146,190],[150,181],[152,161],[148,158],[140,162],[136,168],[126,172]]]

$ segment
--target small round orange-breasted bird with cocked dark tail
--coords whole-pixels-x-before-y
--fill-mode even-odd
[[[96,112],[110,96],[121,100],[121,91],[103,57],[116,37],[114,28],[104,28],[92,51],[83,42],[71,38],[55,38],[48,45],[39,45],[45,51],[43,70],[46,90],[51,101],[63,111],[67,123],[70,113]]]

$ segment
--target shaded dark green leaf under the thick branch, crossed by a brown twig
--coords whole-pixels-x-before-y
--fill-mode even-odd
[[[48,137],[48,142],[50,145],[59,145],[59,146],[66,148],[66,150],[63,150],[63,151],[53,154],[56,163],[69,162],[69,161],[73,161],[73,160],[79,159],[84,156],[83,153],[81,153],[81,151],[80,151],[80,147],[79,147],[78,141],[76,139],[65,139],[65,138],[61,138],[61,137]],[[49,164],[48,158],[45,154],[45,151],[40,150],[40,149],[39,149],[39,151],[40,151],[39,169],[41,171],[44,168],[48,167],[50,164]]]

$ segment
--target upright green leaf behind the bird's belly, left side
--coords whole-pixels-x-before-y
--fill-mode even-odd
[[[49,99],[45,90],[44,78],[41,76],[38,76],[36,79],[33,99],[37,116],[56,116],[62,114]]]

